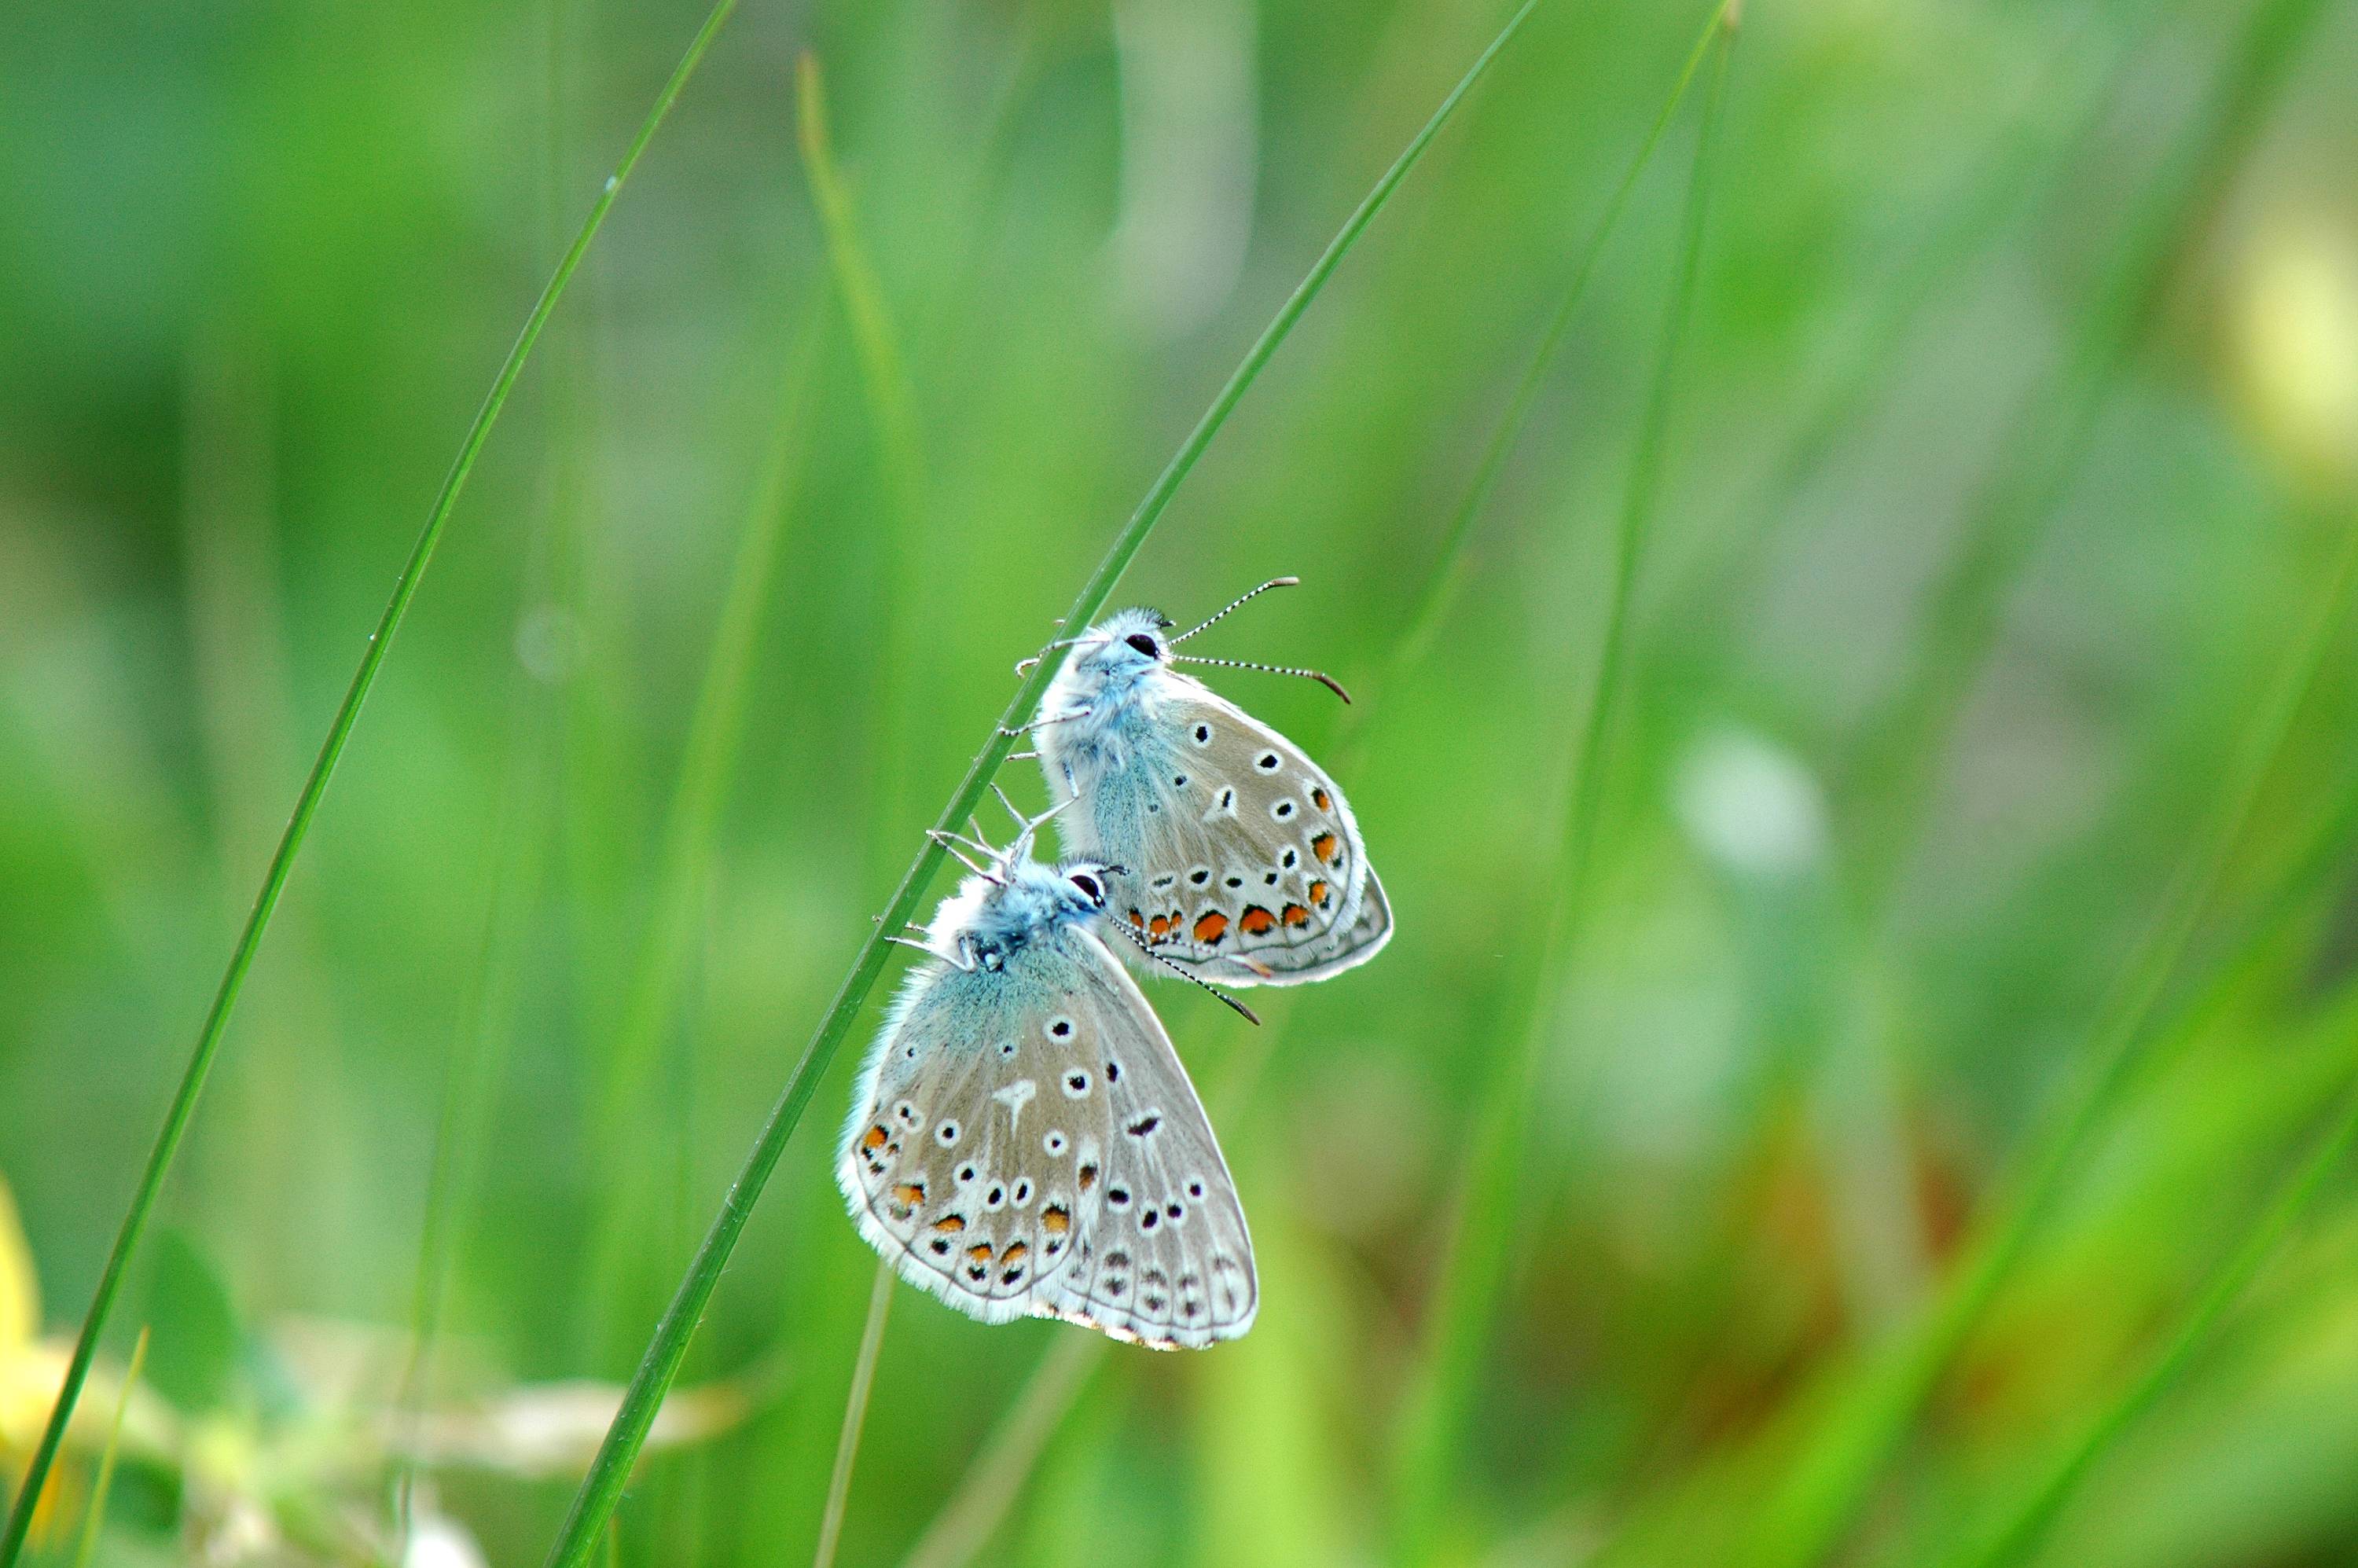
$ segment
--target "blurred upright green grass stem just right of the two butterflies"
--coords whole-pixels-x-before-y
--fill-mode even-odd
[[[1620,531],[1613,545],[1613,585],[1603,620],[1603,644],[1589,689],[1587,717],[1575,736],[1566,771],[1568,809],[1556,851],[1556,875],[1549,882],[1554,898],[1547,931],[1533,964],[1535,979],[1521,1000],[1521,1026],[1514,1030],[1519,1045],[1504,1054],[1500,1070],[1490,1078],[1476,1106],[1474,1141],[1457,1195],[1455,1238],[1436,1276],[1427,1344],[1401,1415],[1394,1455],[1394,1500],[1398,1509],[1394,1518],[1394,1559],[1403,1563],[1431,1561],[1441,1544],[1443,1507],[1462,1460],[1483,1337],[1497,1297],[1504,1290],[1511,1243],[1521,1219],[1521,1205],[1514,1200],[1514,1181],[1509,1179],[1511,1162],[1526,1141],[1530,1089],[1540,1078],[1540,1061],[1544,1059],[1549,1000],[1561,993],[1561,976],[1578,943],[1582,905],[1587,901],[1587,877],[1603,813],[1606,750],[1620,705],[1636,575],[1655,519],[1679,340],[1686,332],[1695,271],[1702,257],[1712,151],[1717,146],[1728,54],[1735,40],[1735,26],[1724,12],[1714,21],[1719,24],[1721,47],[1712,57],[1712,80],[1702,99],[1702,125],[1695,134],[1695,163],[1688,177],[1686,212],[1679,231],[1677,271],[1662,316],[1662,342],[1655,354],[1653,382],[1629,460]]]

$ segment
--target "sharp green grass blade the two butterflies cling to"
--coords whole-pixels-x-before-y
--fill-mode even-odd
[[[1311,264],[1309,274],[1285,304],[1278,307],[1271,323],[1262,328],[1262,335],[1245,351],[1243,363],[1238,363],[1238,368],[1229,375],[1229,382],[1212,398],[1212,406],[1196,422],[1196,429],[1188,431],[1179,453],[1172,455],[1170,465],[1146,490],[1146,500],[1139,502],[1139,509],[1132,512],[1129,521],[1113,535],[1106,556],[1096,564],[1096,571],[1089,573],[1089,580],[1082,582],[1080,594],[1073,599],[1073,608],[1063,618],[1066,625],[1087,625],[1106,606],[1106,599],[1113,594],[1113,585],[1120,580],[1122,571],[1127,571],[1132,556],[1137,556],[1139,547],[1146,542],[1146,535],[1151,535],[1155,523],[1162,521],[1162,512],[1170,507],[1172,495],[1177,495],[1179,483],[1203,457],[1212,436],[1219,434],[1219,427],[1229,422],[1229,415],[1243,401],[1245,391],[1254,380],[1259,380],[1269,356],[1276,354],[1278,344],[1295,330],[1295,323],[1320,295],[1320,290],[1325,290],[1328,278],[1358,243],[1358,236],[1365,233],[1368,224],[1384,210],[1408,172],[1424,158],[1424,149],[1450,120],[1450,116],[1457,113],[1457,104],[1462,104],[1483,73],[1488,73],[1490,64],[1514,40],[1514,35],[1523,31],[1523,24],[1530,19],[1533,9],[1537,9],[1537,2],[1540,0],[1523,0],[1507,26],[1500,28],[1497,38],[1490,40],[1434,116],[1408,141],[1391,167],[1384,170],[1382,179],[1375,182],[1375,189],[1368,191],[1351,217],[1344,219],[1342,231]],[[1033,665],[1030,674],[1019,681],[1016,693],[1000,714],[1000,722],[983,740],[983,747],[974,755],[974,762],[967,766],[967,776],[960,780],[950,802],[936,818],[934,825],[941,832],[957,830],[983,804],[983,792],[990,788],[993,776],[997,776],[1000,764],[1007,762],[1007,752],[1014,750],[1014,726],[1040,705],[1040,696],[1056,674],[1056,665],[1059,660],[1042,658]],[[698,1245],[672,1304],[663,1311],[663,1318],[648,1339],[646,1353],[632,1372],[630,1389],[623,1396],[623,1408],[606,1429],[606,1441],[599,1445],[599,1455],[592,1462],[590,1474],[582,1476],[580,1493],[573,1497],[566,1523],[549,1549],[552,1568],[582,1568],[582,1563],[590,1561],[590,1551],[594,1549],[606,1518],[613,1516],[613,1509],[623,1497],[623,1485],[630,1481],[630,1469],[639,1457],[639,1448],[646,1443],[646,1431],[656,1419],[656,1410],[663,1405],[663,1396],[670,1391],[672,1379],[679,1377],[679,1363],[686,1356],[689,1339],[696,1332],[696,1323],[703,1318],[705,1302],[712,1299],[712,1287],[719,1285],[722,1269],[736,1250],[745,1219],[752,1212],[755,1200],[762,1195],[762,1188],[769,1184],[778,1158],[785,1153],[788,1139],[802,1122],[802,1113],[811,1103],[811,1094],[818,1092],[821,1073],[825,1073],[828,1063],[835,1059],[835,1049],[851,1030],[861,1004],[868,1000],[868,993],[875,988],[875,981],[884,969],[889,950],[884,938],[898,936],[908,927],[910,917],[917,913],[917,898],[941,868],[941,861],[943,851],[929,837],[924,849],[917,851],[917,858],[910,861],[898,889],[894,889],[877,927],[861,943],[851,971],[835,993],[835,1002],[811,1033],[811,1042],[804,1047],[802,1061],[795,1063],[795,1073],[788,1078],[785,1089],[771,1108],[769,1120],[762,1125],[759,1137],[755,1137],[736,1181],[729,1184],[719,1214],[714,1214],[712,1226],[705,1231],[705,1238]]]

